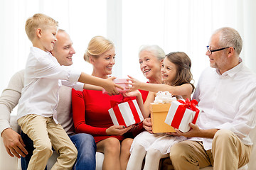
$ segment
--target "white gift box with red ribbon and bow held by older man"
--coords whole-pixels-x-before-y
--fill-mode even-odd
[[[188,132],[191,128],[188,124],[195,124],[200,113],[200,110],[196,107],[195,103],[197,104],[196,100],[173,101],[164,122],[181,132]],[[191,107],[193,110],[191,110]]]

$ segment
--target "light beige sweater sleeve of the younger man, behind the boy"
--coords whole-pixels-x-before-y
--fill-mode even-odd
[[[21,98],[21,90],[24,86],[24,70],[17,72],[11,77],[9,85],[0,97],[0,134],[10,126],[11,111],[17,106]]]

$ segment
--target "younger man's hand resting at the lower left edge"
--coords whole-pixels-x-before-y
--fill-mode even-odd
[[[25,149],[25,144],[21,139],[21,135],[12,130],[11,128],[7,128],[2,132],[4,147],[6,148],[6,152],[11,156],[14,155],[17,158],[26,157],[25,154],[28,154]]]

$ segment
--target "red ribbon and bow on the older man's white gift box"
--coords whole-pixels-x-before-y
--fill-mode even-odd
[[[171,123],[171,126],[178,129],[187,108],[196,112],[195,117],[192,121],[192,123],[195,124],[199,114],[199,109],[196,108],[196,105],[198,104],[198,102],[196,100],[189,101],[188,98],[186,99],[186,101],[178,100],[178,102],[182,104],[178,106],[176,114],[174,115],[174,119]]]

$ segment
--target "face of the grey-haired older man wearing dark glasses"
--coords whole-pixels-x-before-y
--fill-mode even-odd
[[[215,50],[218,48],[222,48],[219,45],[219,35],[215,34],[210,39],[210,50]],[[210,52],[206,52],[206,55],[208,55],[210,59],[210,67],[219,69],[220,72],[225,69],[225,64],[227,64],[227,56],[225,55],[227,49],[213,52],[210,55]]]

